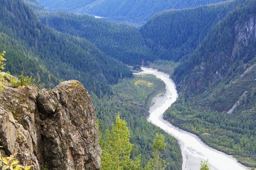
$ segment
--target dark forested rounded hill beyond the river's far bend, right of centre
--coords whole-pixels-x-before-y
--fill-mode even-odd
[[[159,13],[142,26],[140,32],[154,57],[178,61],[193,52],[211,28],[236,6],[222,2],[184,10]]]

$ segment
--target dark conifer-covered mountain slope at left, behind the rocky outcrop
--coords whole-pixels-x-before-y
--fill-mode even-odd
[[[59,33],[41,24],[20,0],[0,0],[1,50],[7,51],[7,71],[40,77],[47,85],[77,79],[98,96],[111,93],[109,84],[132,73],[83,38]]]

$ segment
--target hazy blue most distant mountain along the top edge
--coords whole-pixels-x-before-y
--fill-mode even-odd
[[[90,14],[138,24],[163,10],[191,8],[220,1],[223,0],[37,0],[50,11]]]

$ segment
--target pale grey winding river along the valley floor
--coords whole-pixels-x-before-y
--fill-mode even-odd
[[[196,135],[181,130],[163,119],[163,113],[178,97],[176,86],[168,74],[157,69],[142,68],[137,74],[152,74],[166,85],[166,92],[157,96],[150,107],[148,121],[174,136],[180,145],[183,163],[182,170],[199,170],[201,160],[209,160],[211,170],[248,170],[230,155],[219,152],[204,144]]]

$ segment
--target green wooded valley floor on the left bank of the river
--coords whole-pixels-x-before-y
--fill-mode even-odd
[[[138,81],[140,83],[137,86],[135,83]],[[166,170],[181,169],[182,156],[177,140],[146,120],[149,114],[148,103],[164,90],[164,83],[155,76],[144,75],[123,79],[112,87],[114,94],[111,97],[98,99],[94,94],[91,95],[102,136],[105,136],[106,129],[111,129],[110,122],[115,121],[116,113],[119,112],[120,117],[125,118],[130,131],[130,141],[134,144],[131,152],[133,160],[140,154],[141,167],[146,166],[148,160],[153,157],[152,140],[158,133],[164,135],[167,143],[166,149],[160,152],[160,157],[170,163]]]

